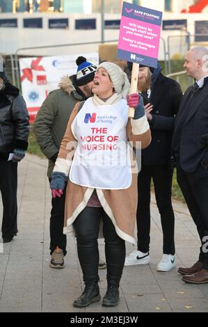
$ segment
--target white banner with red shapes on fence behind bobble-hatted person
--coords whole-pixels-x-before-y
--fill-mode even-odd
[[[22,95],[30,115],[35,120],[42,102],[47,95],[58,88],[63,75],[77,73],[76,59],[79,55],[20,58]],[[91,63],[98,64],[98,54],[83,54]]]

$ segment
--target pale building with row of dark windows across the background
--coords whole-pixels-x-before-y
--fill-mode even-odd
[[[104,15],[101,15],[102,3]],[[208,0],[135,0],[134,3],[163,11],[161,61],[167,51],[170,58],[179,57],[187,47],[199,42],[208,45],[208,20],[204,12]],[[202,13],[189,13],[194,6],[200,6]],[[80,54],[83,49],[97,51],[102,42],[118,42],[121,0],[0,0],[0,8],[2,54]],[[19,51],[22,48],[24,51]]]

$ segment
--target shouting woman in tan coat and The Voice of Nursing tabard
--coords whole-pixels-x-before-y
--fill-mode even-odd
[[[102,225],[105,239],[108,289],[102,305],[119,302],[119,282],[125,263],[125,241],[135,244],[137,169],[132,166],[134,145],[151,141],[143,99],[129,93],[127,75],[118,65],[97,67],[93,97],[72,111],[52,175],[54,196],[61,196],[69,175],[64,232],[77,237],[77,251],[85,289],[74,301],[86,307],[99,301],[97,238]],[[128,119],[128,106],[134,118]],[[76,150],[74,148],[76,147]],[[102,224],[100,224],[102,221]]]

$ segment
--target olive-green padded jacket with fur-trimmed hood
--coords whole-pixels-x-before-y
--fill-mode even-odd
[[[86,98],[77,88],[74,77],[74,75],[62,77],[58,84],[60,88],[49,93],[33,124],[33,131],[40,149],[49,159],[48,177],[51,177],[53,172],[70,114],[75,104]]]

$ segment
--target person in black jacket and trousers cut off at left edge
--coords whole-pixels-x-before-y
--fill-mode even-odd
[[[0,58],[1,59],[1,58]],[[18,88],[0,66],[0,191],[3,202],[3,243],[17,234],[17,163],[28,146],[29,114]],[[1,64],[0,63],[0,64]]]

